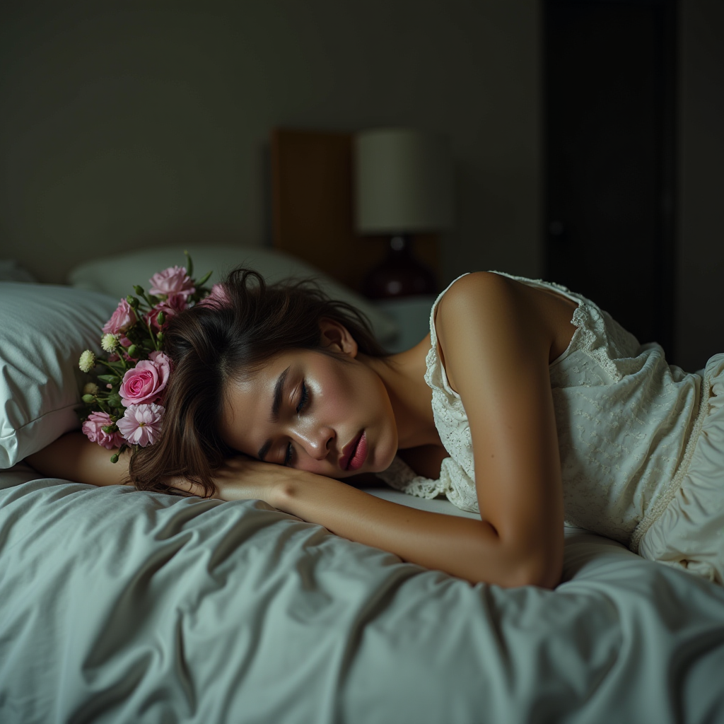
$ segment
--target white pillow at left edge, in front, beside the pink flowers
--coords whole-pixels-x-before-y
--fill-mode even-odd
[[[118,298],[45,284],[0,282],[0,469],[80,428],[75,408]]]

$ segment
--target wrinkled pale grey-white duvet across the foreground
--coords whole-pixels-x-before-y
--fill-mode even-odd
[[[258,501],[32,477],[0,473],[3,724],[724,722],[724,590],[586,531],[555,591],[505,590]]]

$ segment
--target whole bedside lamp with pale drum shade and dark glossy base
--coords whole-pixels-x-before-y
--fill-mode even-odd
[[[411,235],[452,226],[452,164],[445,140],[420,130],[382,128],[354,138],[355,225],[387,235],[387,258],[363,281],[373,299],[434,294],[433,272],[411,250]]]

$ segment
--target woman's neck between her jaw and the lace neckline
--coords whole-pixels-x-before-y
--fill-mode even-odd
[[[441,445],[432,416],[432,390],[425,382],[429,335],[411,350],[389,358],[358,355],[379,375],[390,396],[397,425],[397,447]]]

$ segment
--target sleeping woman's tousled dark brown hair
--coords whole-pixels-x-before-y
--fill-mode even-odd
[[[214,494],[212,473],[235,452],[219,434],[227,384],[253,375],[284,350],[334,355],[320,346],[322,319],[343,324],[361,353],[386,355],[366,317],[329,299],[311,280],[267,285],[256,271],[235,269],[222,288],[225,299],[182,311],[164,332],[164,352],[174,363],[164,398],[164,432],[132,455],[129,476],[139,490],[179,492],[167,482],[179,476]]]

